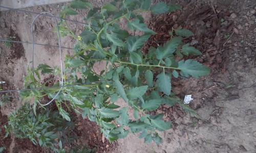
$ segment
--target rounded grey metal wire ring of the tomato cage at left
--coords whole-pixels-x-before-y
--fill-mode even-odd
[[[34,48],[35,48],[35,41],[34,41],[34,35],[33,35],[33,24],[34,24],[34,21],[35,19],[42,15],[42,14],[50,14],[51,16],[54,16],[52,15],[51,13],[49,12],[42,12],[38,15],[36,15],[36,17],[33,19],[32,23],[31,23],[31,36],[32,36],[32,42],[33,42],[33,47],[32,47],[32,69],[34,69]],[[63,86],[63,67],[62,67],[62,56],[61,56],[61,42],[60,42],[60,33],[59,33],[59,26],[58,26],[58,21],[57,21],[57,18],[55,17],[55,22],[56,22],[56,26],[57,26],[57,31],[58,31],[58,43],[59,43],[59,57],[60,57],[60,71],[61,71],[61,82],[60,82],[60,89],[59,91],[57,92],[57,94],[52,98],[51,101],[49,101],[49,103],[47,104],[41,104],[40,101],[38,100],[38,103],[42,106],[47,106],[49,104],[52,103],[52,101],[58,96],[58,94],[60,93],[60,91],[62,90],[62,86]],[[35,72],[33,71],[33,77],[35,76]],[[35,78],[35,77],[34,77]]]

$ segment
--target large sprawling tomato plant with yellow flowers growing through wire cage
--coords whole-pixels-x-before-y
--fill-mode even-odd
[[[91,121],[97,122],[100,131],[111,142],[129,133],[140,133],[139,137],[144,138],[145,142],[153,140],[160,143],[158,131],[170,129],[172,122],[163,121],[164,114],[150,115],[149,112],[160,105],[180,103],[186,112],[197,116],[196,111],[184,105],[172,92],[171,81],[179,75],[199,78],[207,75],[210,69],[191,59],[175,60],[176,56],[201,55],[195,47],[182,43],[182,37],[194,34],[181,27],[169,32],[170,40],[163,46],[150,47],[142,52],[146,40],[157,33],[147,28],[140,13],[156,15],[180,9],[177,5],[163,2],[155,5],[151,3],[151,0],[116,0],[94,8],[89,2],[78,0],[64,6],[60,12],[61,18],[76,15],[74,9],[88,10],[83,18],[88,25],[78,36],[65,20],[58,23],[61,36],[76,39],[74,55],[66,56],[63,77],[57,67],[51,68],[46,64],[29,69],[25,77],[26,88],[46,87],[46,84],[40,83],[40,76],[52,73],[55,82],[58,82],[54,85],[56,88],[23,91],[20,95],[24,99],[33,97],[34,108],[42,97],[55,97],[59,114],[63,118],[71,120],[63,106],[74,109],[83,118],[88,116]],[[131,31],[141,31],[143,34],[132,36],[120,29],[116,23],[120,19],[126,20],[127,28]],[[94,69],[97,63],[105,64],[100,72]],[[59,92],[57,87],[62,78],[65,86]],[[116,103],[118,98],[122,98],[125,105]],[[127,114],[129,109],[133,111],[132,115]]]

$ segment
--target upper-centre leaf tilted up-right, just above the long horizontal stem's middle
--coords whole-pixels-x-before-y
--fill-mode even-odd
[[[138,48],[141,48],[148,38],[150,38],[150,35],[128,37],[127,45],[128,45],[129,52],[134,52]]]

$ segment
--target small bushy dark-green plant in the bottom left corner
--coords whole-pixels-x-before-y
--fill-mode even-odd
[[[8,116],[8,125],[5,125],[6,137],[12,133],[16,138],[29,138],[33,144],[42,147],[55,148],[56,138],[60,139],[68,127],[73,123],[60,117],[58,112],[49,109],[36,109],[34,114],[30,104],[26,103],[17,111]]]

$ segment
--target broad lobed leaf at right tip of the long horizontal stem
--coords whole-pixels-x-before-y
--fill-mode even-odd
[[[183,77],[189,77],[189,75],[191,75],[194,78],[199,78],[210,73],[210,68],[191,59],[186,60],[185,62],[184,60],[181,60],[178,62],[178,65],[180,75]]]

